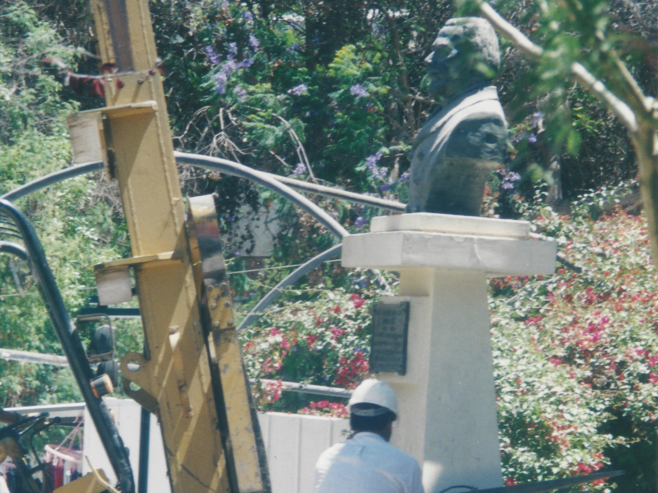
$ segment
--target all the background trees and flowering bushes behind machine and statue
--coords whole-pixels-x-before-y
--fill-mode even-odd
[[[428,99],[420,61],[455,12],[451,3],[149,5],[177,149],[406,200],[407,151],[441,103]],[[590,18],[603,18],[605,29],[618,35],[634,75],[655,94],[657,7],[630,0],[583,5],[594,9]],[[501,1],[498,7],[536,41],[554,41],[541,2]],[[57,57],[75,72],[97,73],[92,28],[86,0],[0,1],[1,192],[67,166],[63,116],[103,104],[88,83],[67,79],[45,61]],[[548,80],[502,39],[501,49],[495,82],[514,145],[507,167],[521,179],[509,189],[509,170],[494,174],[484,214],[532,220],[563,253],[549,279],[490,283],[507,482],[609,467],[629,471],[616,481],[618,491],[655,492],[655,274],[632,181],[634,156],[619,123],[590,96]],[[557,174],[551,168],[556,160]],[[266,260],[274,269],[255,279],[231,276],[242,314],[291,270],[284,266],[336,241],[306,214],[245,181],[190,168],[181,168],[180,176],[188,194],[217,194],[226,233],[245,212],[278,205],[282,230]],[[563,200],[554,199],[558,188]],[[351,231],[367,231],[369,218],[380,214],[314,199]],[[94,294],[89,266],[129,252],[114,185],[100,175],[78,177],[18,204],[38,229],[76,314]],[[248,236],[227,247],[233,271],[249,267]],[[0,268],[1,345],[61,354],[27,267],[19,266],[24,297],[9,263],[3,260]],[[336,262],[309,273],[243,333],[251,376],[354,387],[368,375],[370,306],[395,293],[395,283],[393,273],[374,277]],[[83,339],[92,329],[80,327]],[[140,350],[139,324],[118,323],[117,345],[119,357]],[[0,362],[0,371],[4,406],[80,400],[66,369]],[[254,392],[263,410],[345,413],[340,400],[315,402],[281,392],[276,383],[257,385]]]

